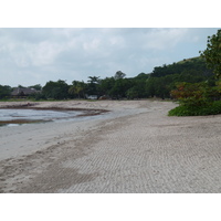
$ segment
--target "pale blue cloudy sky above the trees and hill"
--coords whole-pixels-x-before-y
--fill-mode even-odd
[[[199,55],[214,28],[1,28],[0,84],[127,77]]]

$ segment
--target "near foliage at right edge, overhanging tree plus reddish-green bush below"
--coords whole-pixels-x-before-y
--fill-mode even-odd
[[[213,70],[217,78],[221,77],[221,30],[208,36],[207,50],[201,53],[207,66]],[[181,83],[171,91],[179,106],[171,109],[169,116],[198,116],[221,114],[221,81],[212,78],[204,83]]]

